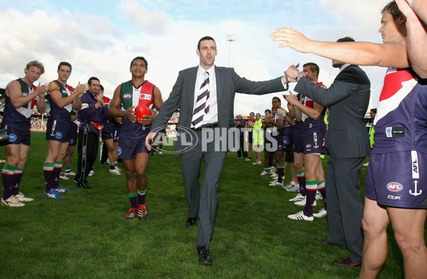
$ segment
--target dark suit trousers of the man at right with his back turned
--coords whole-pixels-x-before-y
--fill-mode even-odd
[[[360,174],[364,157],[329,157],[326,172],[329,237],[335,245],[349,249],[350,258],[361,263],[364,245]]]

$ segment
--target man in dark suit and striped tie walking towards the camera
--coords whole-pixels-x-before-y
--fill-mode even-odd
[[[284,90],[284,77],[254,82],[240,78],[233,68],[216,67],[217,46],[211,37],[197,44],[200,65],[181,70],[168,100],[153,122],[146,145],[154,139],[170,116],[180,108],[179,139],[175,152],[180,153],[185,193],[189,204],[187,226],[195,226],[200,218],[197,253],[199,263],[211,265],[212,238],[218,204],[217,187],[227,155],[227,142],[217,140],[227,135],[234,125],[235,93],[262,95]],[[283,80],[282,80],[283,79]],[[215,140],[213,140],[215,138]],[[200,194],[200,166],[204,175]]]

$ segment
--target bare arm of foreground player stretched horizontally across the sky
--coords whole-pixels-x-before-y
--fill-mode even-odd
[[[279,28],[270,34],[273,41],[283,41],[279,47],[291,47],[302,53],[314,53],[354,65],[408,68],[406,40],[398,43],[322,42],[313,41],[294,28]],[[292,77],[289,75],[289,77]]]

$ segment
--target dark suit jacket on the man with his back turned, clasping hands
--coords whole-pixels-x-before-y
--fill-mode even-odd
[[[295,91],[329,107],[326,145],[332,157],[367,157],[371,152],[364,122],[371,95],[371,83],[357,65],[349,65],[336,76],[328,89],[301,78]]]

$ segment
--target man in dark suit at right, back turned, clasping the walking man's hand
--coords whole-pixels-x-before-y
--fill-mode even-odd
[[[338,42],[354,41],[341,38]],[[326,173],[329,236],[318,239],[348,248],[347,258],[334,260],[337,265],[357,266],[363,249],[362,217],[364,205],[360,196],[361,167],[369,156],[369,136],[364,115],[369,105],[371,83],[359,66],[332,60],[339,75],[329,89],[319,88],[291,66],[285,73],[296,80],[295,91],[329,107],[329,127],[326,146],[331,154]],[[285,96],[287,100],[296,98]]]

